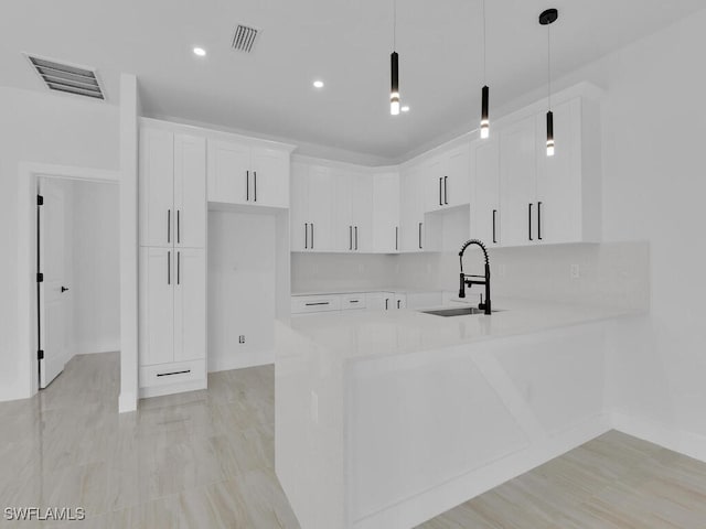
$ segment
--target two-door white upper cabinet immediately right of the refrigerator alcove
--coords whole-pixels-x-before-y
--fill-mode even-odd
[[[333,250],[335,181],[330,168],[292,163],[291,190],[291,250]]]

